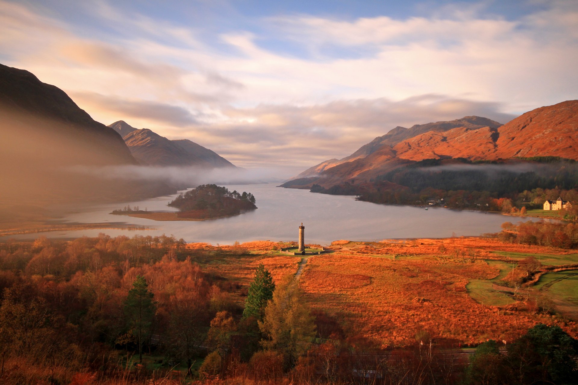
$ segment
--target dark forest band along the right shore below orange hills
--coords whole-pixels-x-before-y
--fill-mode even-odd
[[[542,208],[544,200],[578,201],[578,164],[572,159],[553,156],[520,158],[532,162],[533,170],[525,171],[527,163],[506,165],[499,162],[452,159],[425,159],[378,175],[361,184],[342,183],[323,188],[317,184],[312,192],[333,195],[357,195],[358,200],[385,204],[435,205],[450,208],[510,212]],[[457,162],[457,163],[455,163]],[[506,209],[502,199],[509,200]],[[575,213],[570,214],[573,219]]]

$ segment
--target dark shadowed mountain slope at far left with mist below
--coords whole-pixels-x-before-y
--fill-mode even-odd
[[[57,136],[68,143],[90,143],[90,148],[81,151],[68,148],[69,154],[54,149],[57,157],[51,159],[53,161],[65,157],[79,164],[136,164],[114,130],[94,121],[60,88],[42,83],[26,70],[0,64],[0,114],[4,120],[2,132],[5,140],[30,134],[26,138],[29,144],[48,137],[49,142],[39,143],[42,147]],[[8,121],[16,124],[18,132],[8,129]],[[46,148],[42,151],[45,155],[50,152],[51,149]]]

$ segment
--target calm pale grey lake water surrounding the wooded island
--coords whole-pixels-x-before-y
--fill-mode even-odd
[[[497,232],[503,222],[518,222],[501,214],[486,214],[477,211],[457,211],[446,208],[424,208],[410,206],[381,205],[356,201],[353,196],[310,193],[308,190],[278,188],[276,184],[229,185],[227,188],[239,192],[253,193],[257,199],[257,210],[231,218],[210,219],[198,222],[165,221],[112,215],[109,212],[125,204],[94,205],[83,212],[71,214],[64,219],[69,222],[126,222],[151,227],[150,230],[75,230],[47,231],[10,238],[76,238],[94,237],[98,233],[110,236],[135,234],[159,236],[173,234],[187,242],[209,242],[211,244],[233,244],[235,241],[256,240],[297,241],[298,226],[305,226],[305,242],[328,245],[335,240],[375,241],[386,238],[440,238],[457,236],[479,236]],[[176,211],[166,206],[174,196],[156,197],[130,202],[140,210]],[[530,218],[524,218],[528,220]]]

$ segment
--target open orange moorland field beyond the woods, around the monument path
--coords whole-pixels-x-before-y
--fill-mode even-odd
[[[264,263],[276,280],[297,271],[300,259],[278,255],[273,248],[279,244],[251,244],[250,255],[197,261],[203,268],[243,285],[250,282],[258,263]],[[249,244],[239,246],[245,245]],[[512,271],[522,274],[517,262],[525,257],[536,256],[544,265],[557,266],[576,263],[578,255],[573,251],[477,237],[342,240],[327,250],[326,254],[310,256],[303,270],[300,282],[305,301],[312,310],[339,319],[348,334],[375,339],[383,346],[413,343],[416,335],[424,332],[461,345],[475,345],[488,338],[513,341],[540,322],[558,324],[574,337],[578,335],[575,322],[537,311],[532,302],[544,294],[553,300],[569,298],[576,284],[572,289],[560,283],[547,292],[523,287],[517,290],[517,297],[513,287],[507,287],[512,285]],[[550,274],[568,275],[569,271],[546,276]],[[578,303],[575,305],[578,309]],[[568,310],[565,315],[573,314]]]

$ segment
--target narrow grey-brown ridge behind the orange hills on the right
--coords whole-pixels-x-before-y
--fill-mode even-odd
[[[306,178],[316,176],[325,170],[331,169],[331,167],[335,167],[345,162],[353,162],[353,160],[365,158],[366,156],[371,155],[373,154],[373,152],[379,150],[381,147],[383,147],[383,145],[393,146],[403,140],[413,138],[419,134],[423,134],[426,132],[444,132],[457,127],[464,127],[467,129],[479,129],[483,127],[498,128],[499,126],[501,126],[501,124],[499,124],[496,121],[477,116],[463,117],[461,119],[455,119],[453,121],[416,124],[411,126],[410,128],[397,126],[396,128],[391,129],[385,135],[378,136],[372,141],[370,141],[368,144],[362,145],[353,154],[346,156],[345,158],[342,159],[325,160],[325,162],[321,162],[318,165],[310,167],[309,169],[303,171],[295,178]]]

